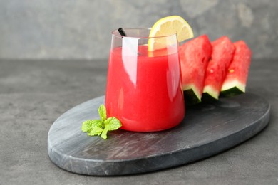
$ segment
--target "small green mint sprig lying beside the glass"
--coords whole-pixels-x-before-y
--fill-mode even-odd
[[[98,107],[98,115],[101,120],[86,120],[83,122],[81,130],[87,132],[89,136],[101,136],[107,139],[107,132],[119,129],[122,124],[116,117],[108,117],[106,115],[106,108],[102,104]]]

